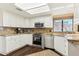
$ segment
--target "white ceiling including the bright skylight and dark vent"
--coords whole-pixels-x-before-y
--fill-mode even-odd
[[[11,11],[13,13],[17,13],[24,17],[34,17],[34,16],[51,14],[52,9],[67,6],[71,3],[24,3],[24,4],[19,3],[19,4],[23,5],[23,8],[18,7],[15,3],[0,3],[0,8],[3,10]]]

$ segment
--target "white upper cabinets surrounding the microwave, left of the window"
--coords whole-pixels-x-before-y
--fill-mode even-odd
[[[53,28],[53,19],[51,15],[34,17],[29,20],[30,27],[35,27],[35,23],[43,23],[45,28]]]

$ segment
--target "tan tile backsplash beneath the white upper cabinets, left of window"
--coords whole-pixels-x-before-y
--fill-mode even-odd
[[[17,33],[16,28],[2,28],[0,35],[25,34],[25,33],[51,33],[51,28],[21,28],[22,33]]]

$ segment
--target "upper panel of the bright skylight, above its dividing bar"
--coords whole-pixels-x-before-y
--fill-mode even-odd
[[[15,5],[23,10],[28,10],[31,8],[46,5],[46,3],[15,3]]]

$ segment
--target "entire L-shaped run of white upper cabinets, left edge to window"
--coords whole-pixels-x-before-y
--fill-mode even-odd
[[[53,20],[51,15],[25,18],[21,15],[9,11],[0,11],[0,26],[35,28],[35,23],[37,22],[43,23],[45,28],[53,27]]]

